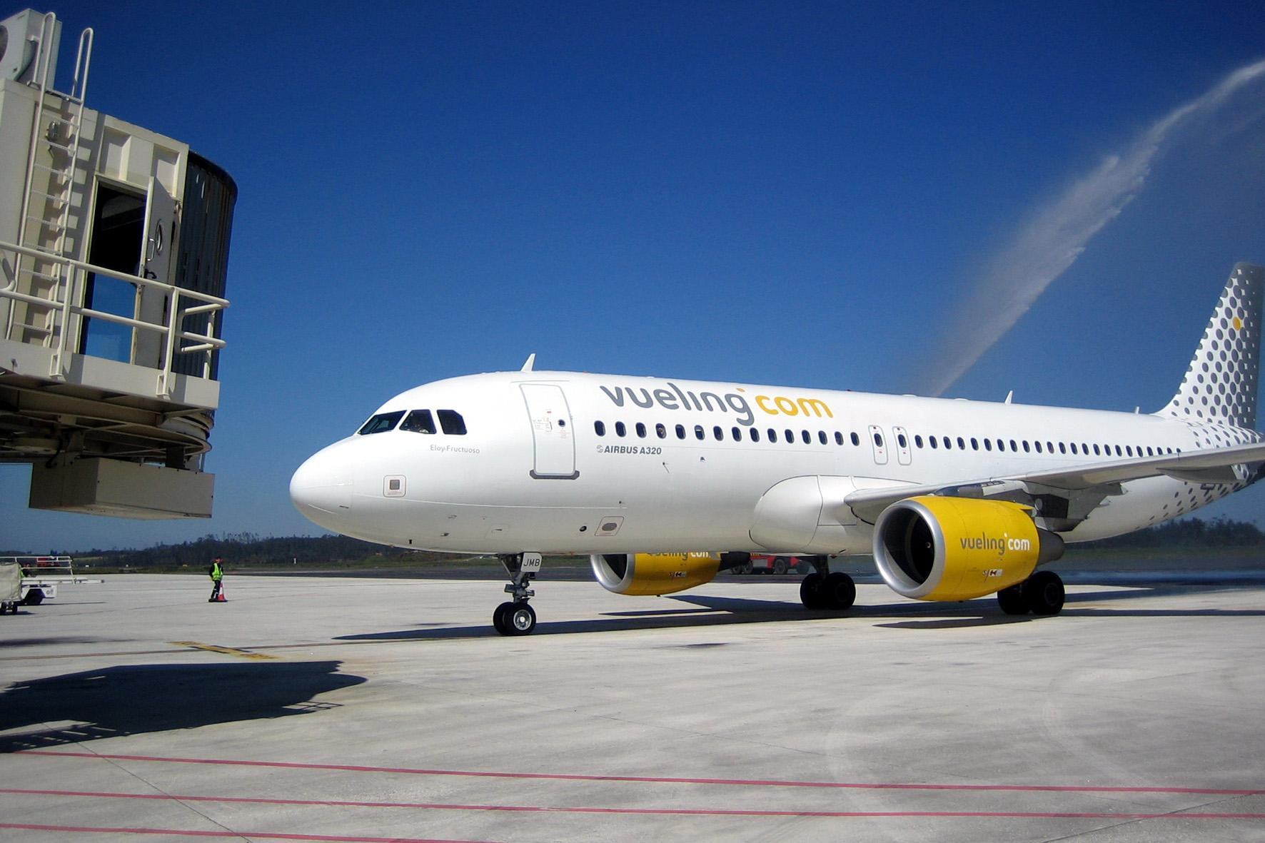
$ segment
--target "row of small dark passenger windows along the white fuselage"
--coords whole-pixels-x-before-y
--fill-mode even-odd
[[[629,425],[626,425],[624,422],[616,422],[612,427],[615,435],[619,438],[624,438],[630,434]],[[605,422],[593,422],[593,433],[596,433],[600,437],[605,437],[606,430],[607,428]],[[653,425],[653,433],[655,438],[667,439],[669,438],[669,432],[670,434],[674,434],[677,439],[688,439],[691,437],[691,430],[683,424],[677,424],[672,428],[662,423]],[[643,422],[638,422],[631,427],[631,433],[635,434],[639,439],[645,439],[650,435],[651,428]],[[854,446],[859,446],[861,443],[861,438],[855,432],[845,435],[839,430],[835,430],[832,434],[826,433],[825,430],[817,430],[816,434],[813,434],[812,432],[805,429],[796,432],[792,430],[791,428],[786,428],[783,430],[779,430],[777,428],[767,428],[762,433],[760,428],[750,427],[746,428],[746,433],[744,434],[743,428],[735,425],[730,428],[726,434],[725,428],[722,428],[719,424],[713,425],[711,430],[708,430],[701,424],[693,425],[692,435],[696,440],[702,442],[708,438],[708,434],[716,442],[725,442],[726,439],[730,439],[732,442],[743,442],[744,438],[749,442],[759,442],[763,435],[767,438],[768,442],[778,442],[781,439],[782,442],[786,442],[788,444],[796,444],[796,443],[812,444],[813,442],[817,442],[820,444],[830,444],[831,440],[834,440],[834,443],[837,446],[845,444],[848,442],[851,442],[851,444]],[[970,443],[969,446],[968,442]],[[899,444],[901,448],[910,447],[910,442],[906,438],[904,433],[897,434],[897,443]],[[874,446],[878,448],[884,447],[882,434],[874,433]],[[1157,446],[1118,446],[1118,444],[1108,446],[1099,443],[1090,444],[1087,442],[1055,443],[1049,439],[1046,439],[1045,442],[1040,440],[1030,442],[1027,439],[1018,439],[1018,440],[1002,439],[1002,438],[980,439],[977,437],[972,437],[970,439],[966,439],[965,437],[958,437],[956,439],[954,439],[950,437],[936,437],[936,435],[929,435],[926,439],[923,439],[921,434],[913,437],[913,446],[918,449],[929,447],[932,451],[939,451],[941,448],[945,451],[953,451],[955,447],[958,451],[966,451],[968,447],[972,451],[979,451],[980,447],[983,447],[984,451],[996,449],[1001,453],[1006,452],[1020,453],[1022,451],[1023,453],[1028,454],[1031,453],[1054,454],[1058,451],[1058,453],[1060,454],[1070,453],[1074,456],[1089,456],[1090,453],[1093,453],[1095,457],[1101,456],[1157,457],[1157,456],[1164,456],[1165,453],[1182,453],[1180,448],[1174,449],[1174,448],[1163,448]]]

